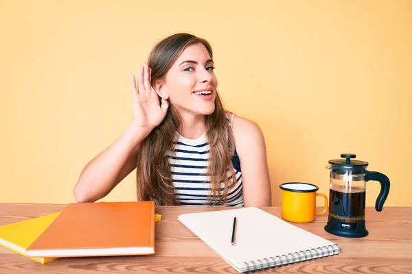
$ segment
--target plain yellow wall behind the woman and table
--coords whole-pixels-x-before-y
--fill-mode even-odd
[[[407,0],[3,0],[0,202],[75,201],[83,166],[133,119],[130,73],[190,32],[211,42],[226,107],[264,132],[273,206],[283,182],[329,195],[341,153],[391,179],[385,206],[412,206],[411,14]],[[367,206],[379,190],[367,183]],[[103,200],[134,201],[135,172]]]

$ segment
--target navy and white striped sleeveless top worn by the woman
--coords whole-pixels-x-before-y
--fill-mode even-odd
[[[206,174],[209,162],[209,142],[207,142],[206,133],[196,139],[188,139],[176,133],[174,150],[168,153],[168,159],[179,205],[210,206],[211,184]],[[229,190],[222,206],[244,206],[242,173],[236,149],[231,162],[235,169],[236,185]],[[229,171],[227,176],[231,179]],[[225,183],[221,183],[220,189],[224,190],[224,187]]]

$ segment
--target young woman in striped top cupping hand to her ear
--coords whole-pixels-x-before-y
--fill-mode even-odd
[[[207,40],[161,40],[130,76],[134,120],[82,170],[74,196],[93,202],[137,169],[137,199],[157,205],[271,206],[260,127],[226,112]]]

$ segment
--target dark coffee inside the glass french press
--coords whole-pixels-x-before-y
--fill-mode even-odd
[[[345,188],[330,188],[329,217],[345,223],[365,221],[365,190],[352,188],[351,192],[345,191]]]

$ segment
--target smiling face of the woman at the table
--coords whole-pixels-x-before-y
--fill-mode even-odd
[[[181,114],[214,112],[218,80],[214,62],[206,47],[196,43],[187,47],[165,75],[163,90]]]

